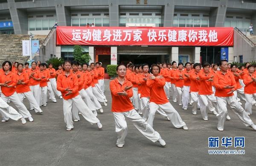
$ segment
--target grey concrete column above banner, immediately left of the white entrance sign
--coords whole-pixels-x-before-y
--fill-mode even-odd
[[[119,26],[119,0],[109,0],[109,26]]]

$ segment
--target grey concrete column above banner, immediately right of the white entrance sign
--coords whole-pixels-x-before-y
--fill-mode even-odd
[[[163,26],[170,27],[173,23],[174,1],[166,0],[163,12]]]

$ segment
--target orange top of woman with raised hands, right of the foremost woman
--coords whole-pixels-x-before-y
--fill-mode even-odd
[[[169,100],[166,97],[163,86],[166,84],[165,79],[155,78],[154,80],[147,80],[147,86],[150,89],[150,100],[157,104],[168,103]]]

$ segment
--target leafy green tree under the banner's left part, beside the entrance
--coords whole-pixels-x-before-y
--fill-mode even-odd
[[[91,60],[91,57],[89,54],[84,54],[84,49],[79,46],[74,46],[74,52],[73,52],[74,60],[78,61],[79,63],[89,63]]]

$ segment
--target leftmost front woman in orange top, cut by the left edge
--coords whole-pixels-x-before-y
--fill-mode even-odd
[[[20,101],[16,93],[16,74],[12,72],[12,63],[10,61],[3,62],[3,71],[4,73],[0,74],[0,86],[2,90],[1,98],[4,102],[11,100],[17,107],[19,113],[23,116],[21,122],[26,123],[25,118],[29,118],[30,122],[33,122],[33,118],[29,111],[26,109],[26,106]],[[6,117],[6,114],[2,114],[2,122],[9,120],[9,117]]]

